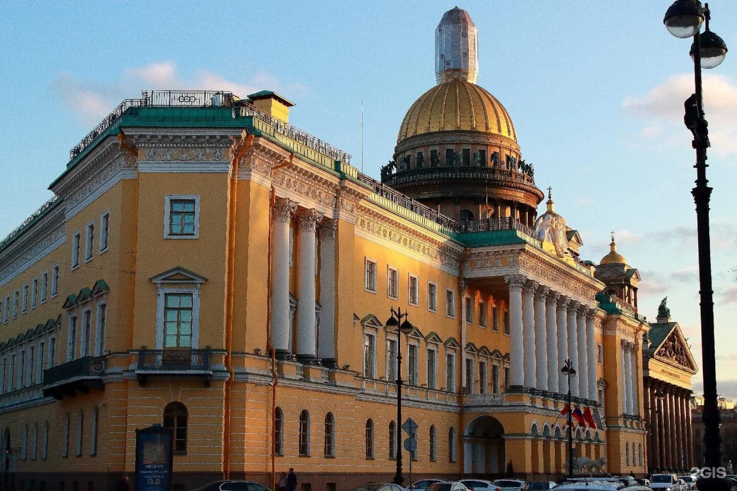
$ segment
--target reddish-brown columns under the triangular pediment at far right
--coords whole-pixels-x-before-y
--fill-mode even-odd
[[[651,377],[645,378],[650,470],[677,471],[694,467],[690,398],[689,389]]]

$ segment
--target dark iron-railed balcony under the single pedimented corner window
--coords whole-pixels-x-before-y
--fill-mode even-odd
[[[141,385],[151,377],[203,378],[208,385],[212,381],[212,350],[167,348],[136,353],[136,377]]]

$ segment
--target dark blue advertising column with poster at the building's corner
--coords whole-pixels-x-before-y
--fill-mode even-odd
[[[136,491],[171,491],[173,437],[161,425],[136,429]]]

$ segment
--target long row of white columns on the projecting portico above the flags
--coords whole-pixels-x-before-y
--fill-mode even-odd
[[[560,369],[570,358],[577,372],[570,379],[571,395],[596,402],[595,309],[523,275],[504,280],[509,286],[511,389],[566,394],[567,377]]]

